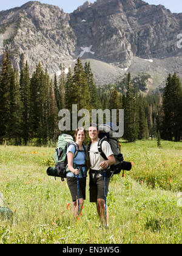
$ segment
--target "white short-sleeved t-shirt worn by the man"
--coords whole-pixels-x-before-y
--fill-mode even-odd
[[[100,154],[95,154],[95,152],[98,152],[98,141],[95,141],[90,145],[90,168],[93,170],[101,171],[102,168],[100,164],[106,160],[103,157],[101,157]],[[112,149],[110,148],[110,144],[107,141],[103,141],[102,150],[106,157],[113,155]]]

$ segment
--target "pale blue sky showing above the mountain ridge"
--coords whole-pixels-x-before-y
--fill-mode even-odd
[[[19,7],[29,0],[0,0],[0,11],[7,10],[14,7]],[[86,0],[39,0],[43,4],[58,5],[60,9],[63,9],[66,13],[71,13],[76,10],[78,6],[83,5]],[[95,0],[90,0],[95,2]],[[171,12],[182,13],[182,1],[181,0],[145,0],[148,4],[162,4]]]

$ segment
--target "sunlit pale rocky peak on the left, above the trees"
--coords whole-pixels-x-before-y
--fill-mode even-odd
[[[16,67],[21,54],[30,69],[40,61],[50,73],[58,71],[64,60],[72,62],[76,38],[69,15],[59,7],[28,2],[20,8],[0,12],[0,24],[1,30],[5,30],[4,44]]]

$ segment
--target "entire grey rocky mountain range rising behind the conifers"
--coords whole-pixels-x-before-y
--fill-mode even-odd
[[[110,67],[108,82],[112,74],[115,81],[127,70],[147,71],[153,77],[162,70],[157,75],[161,82],[167,72],[181,73],[182,52],[177,47],[181,29],[182,13],[141,0],[86,1],[70,14],[32,1],[0,12],[0,34],[14,66],[19,68],[24,54],[32,72],[41,62],[52,74],[59,71],[60,63],[69,67],[78,57],[91,59],[98,84],[103,81],[99,65],[107,67],[107,74]],[[2,54],[0,46],[0,62]]]

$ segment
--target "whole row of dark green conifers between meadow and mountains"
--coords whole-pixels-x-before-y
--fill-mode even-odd
[[[127,76],[125,93],[115,85],[96,88],[90,63],[83,66],[78,59],[74,71],[66,74],[60,66],[61,75],[50,79],[41,64],[29,75],[29,65],[21,61],[18,74],[12,68],[8,53],[4,53],[0,76],[0,140],[12,144],[47,145],[56,141],[59,133],[58,112],[72,104],[79,109],[124,109],[124,137],[127,141],[157,137],[179,141],[181,138],[182,89],[176,74],[169,75],[160,95],[142,96]],[[162,104],[163,103],[163,104]],[[181,123],[180,123],[181,122]]]

